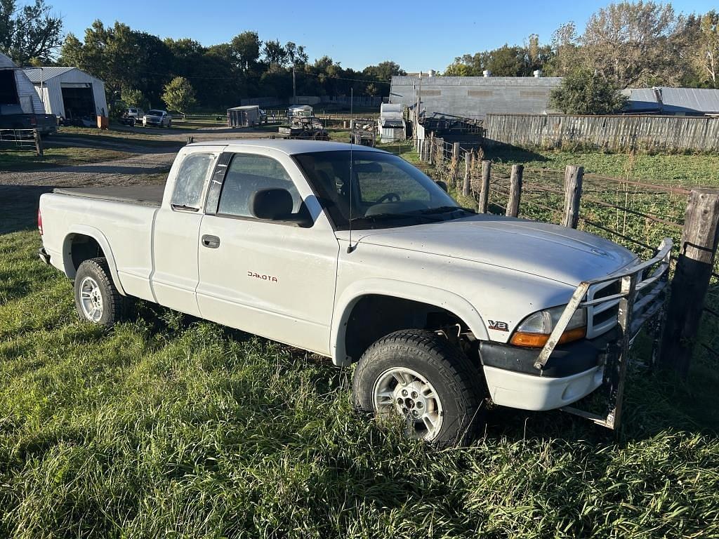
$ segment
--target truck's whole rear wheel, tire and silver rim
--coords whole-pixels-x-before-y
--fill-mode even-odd
[[[129,300],[112,282],[106,259],[80,264],[75,274],[75,309],[81,320],[111,327],[127,315],[128,308]]]

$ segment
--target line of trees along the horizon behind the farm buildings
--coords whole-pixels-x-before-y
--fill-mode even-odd
[[[293,95],[387,96],[393,75],[405,72],[385,61],[363,70],[343,68],[325,55],[310,62],[303,45],[237,34],[209,47],[189,38],[160,39],[115,22],[95,21],[80,39],[63,37],[62,19],[45,0],[18,6],[0,0],[0,50],[19,65],[70,65],[101,78],[109,101],[130,106],[197,103],[204,109],[235,106],[241,97],[287,100]],[[58,56],[59,52],[59,56]],[[677,14],[672,4],[620,1],[597,10],[578,32],[562,24],[542,44],[531,34],[522,45],[456,57],[444,75],[564,77],[552,104],[577,114],[617,111],[620,91],[651,86],[719,88],[719,14]],[[168,103],[169,105],[170,103]]]

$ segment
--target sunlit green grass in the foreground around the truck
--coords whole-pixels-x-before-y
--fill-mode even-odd
[[[326,359],[147,303],[79,322],[34,221],[0,200],[0,537],[719,535],[707,359],[687,382],[631,372],[616,439],[495,408],[433,451],[355,415]]]

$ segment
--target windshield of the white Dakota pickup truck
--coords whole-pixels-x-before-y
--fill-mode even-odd
[[[384,152],[312,152],[294,156],[338,230],[446,221],[470,215],[428,176]],[[351,181],[350,181],[351,178]],[[350,212],[350,193],[352,212]]]

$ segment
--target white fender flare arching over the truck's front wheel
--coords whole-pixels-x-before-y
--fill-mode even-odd
[[[482,315],[462,296],[441,288],[420,285],[394,279],[365,279],[353,282],[342,291],[336,301],[330,329],[330,350],[332,361],[338,366],[347,366],[352,361],[347,357],[344,330],[354,305],[367,295],[384,295],[390,298],[421,301],[449,310],[469,326],[470,331],[480,340],[489,340],[487,326]]]

